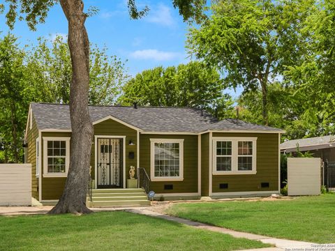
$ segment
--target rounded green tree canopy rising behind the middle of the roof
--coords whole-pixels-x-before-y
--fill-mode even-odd
[[[137,74],[124,86],[123,105],[200,107],[214,111],[232,109],[230,96],[223,94],[220,75],[204,63],[192,61],[177,67],[157,67]]]

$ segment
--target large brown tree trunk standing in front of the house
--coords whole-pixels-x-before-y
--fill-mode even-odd
[[[72,60],[70,86],[70,168],[63,195],[50,213],[90,213],[86,206],[93,126],[89,118],[89,38],[87,15],[80,0],[60,0],[68,20],[68,45]]]

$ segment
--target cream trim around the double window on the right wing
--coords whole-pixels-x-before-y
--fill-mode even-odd
[[[228,141],[232,142],[232,170],[231,171],[216,171],[216,142]],[[238,152],[237,142],[248,141],[253,142],[253,169],[250,171],[238,170]],[[213,137],[213,175],[236,175],[236,174],[256,174],[257,173],[257,137]],[[249,155],[246,155],[249,156]]]

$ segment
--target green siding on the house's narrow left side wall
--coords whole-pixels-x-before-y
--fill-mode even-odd
[[[31,129],[29,125],[27,128],[27,163],[31,164],[31,196],[38,200],[38,178],[36,178],[36,139],[38,138],[38,129],[34,116],[32,121]]]

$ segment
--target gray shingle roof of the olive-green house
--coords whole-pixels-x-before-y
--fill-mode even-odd
[[[38,129],[70,130],[68,105],[31,103]],[[207,130],[250,130],[283,132],[278,128],[259,126],[236,119],[218,121],[213,116],[189,107],[89,106],[91,121],[107,116],[124,121],[144,132],[204,132]]]

